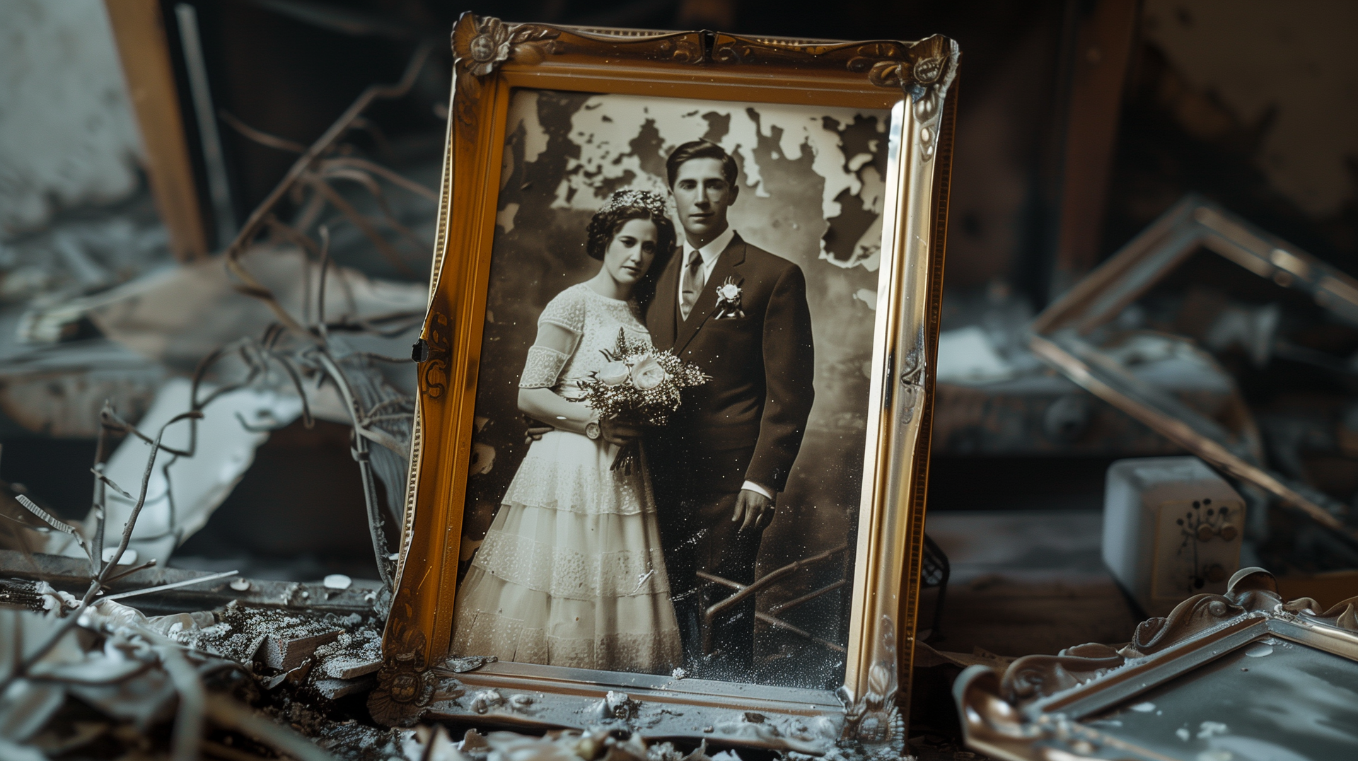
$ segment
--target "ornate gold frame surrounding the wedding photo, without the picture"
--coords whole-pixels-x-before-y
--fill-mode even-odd
[[[923,541],[929,371],[937,342],[959,49],[918,42],[801,41],[714,31],[505,23],[463,14],[451,34],[454,87],[429,315],[416,348],[420,398],[397,591],[375,719],[520,727],[608,727],[771,749],[792,757],[906,754],[910,658]],[[656,98],[869,109],[889,114],[888,198],[865,454],[858,561],[843,686],[794,689],[652,674],[449,659],[469,431],[493,246],[496,183],[516,87]],[[933,160],[933,159],[938,160]],[[456,192],[455,192],[456,189]],[[889,222],[888,222],[889,217]],[[899,368],[894,374],[892,359]],[[899,382],[899,385],[898,385]],[[884,402],[880,404],[879,402]],[[870,510],[869,510],[870,508]]]

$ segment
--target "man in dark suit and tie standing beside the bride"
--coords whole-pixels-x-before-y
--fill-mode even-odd
[[[725,610],[708,632],[702,612],[732,594],[698,573],[755,580],[755,559],[811,412],[815,361],[807,281],[796,264],[744,242],[727,222],[735,159],[695,140],[665,162],[683,223],[683,250],[656,285],[646,328],[712,379],[648,442],[648,461],[684,655],[697,675],[754,669],[755,599]],[[702,658],[705,650],[709,658]]]

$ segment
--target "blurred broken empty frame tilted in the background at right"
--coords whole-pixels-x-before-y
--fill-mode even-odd
[[[1241,420],[1248,414],[1209,417],[1137,378],[1116,356],[1118,341],[1135,336],[1118,325],[1119,315],[1203,250],[1263,281],[1309,296],[1329,319],[1358,328],[1358,280],[1219,205],[1188,194],[1038,315],[1029,337],[1033,353],[1226,476],[1272,493],[1350,541],[1358,539],[1344,523],[1344,504],[1263,465],[1259,432]],[[1260,314],[1277,323],[1275,315]],[[1251,355],[1267,357],[1277,351],[1270,330],[1253,330],[1251,336],[1247,342],[1258,344],[1248,347]]]

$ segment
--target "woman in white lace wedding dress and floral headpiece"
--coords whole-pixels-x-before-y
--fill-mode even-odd
[[[667,673],[682,660],[645,462],[610,470],[631,432],[579,401],[622,329],[650,342],[637,299],[675,246],[664,198],[614,193],[589,222],[603,265],[538,318],[519,409],[554,431],[528,447],[458,591],[455,655],[610,671]]]

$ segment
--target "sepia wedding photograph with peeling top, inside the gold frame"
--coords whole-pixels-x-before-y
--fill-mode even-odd
[[[513,92],[452,655],[842,684],[888,121]]]

